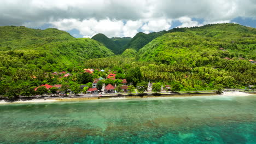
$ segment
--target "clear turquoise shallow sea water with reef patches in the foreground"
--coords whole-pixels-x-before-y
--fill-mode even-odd
[[[0,143],[256,143],[256,95],[0,105]]]

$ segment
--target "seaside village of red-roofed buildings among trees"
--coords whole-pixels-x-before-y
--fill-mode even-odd
[[[139,87],[141,89],[135,88],[135,86],[132,85],[132,83],[127,83],[126,79],[121,79],[120,77],[116,77],[117,71],[111,71],[104,69],[84,69],[84,73],[88,73],[91,75],[94,75],[95,71],[100,73],[105,73],[106,77],[99,76],[98,78],[94,78],[93,81],[89,82],[88,85],[79,85],[79,92],[75,93],[72,91],[72,89],[66,89],[63,90],[63,85],[49,85],[44,84],[36,87],[34,90],[37,91],[39,87],[44,87],[47,89],[47,92],[43,92],[40,95],[45,95],[47,97],[64,97],[68,95],[76,95],[76,96],[103,96],[103,95],[113,95],[113,94],[132,94],[132,93],[153,93],[152,88],[153,84],[152,82],[148,82],[147,85],[144,85],[143,87]],[[69,76],[72,76],[72,74],[67,73],[66,71],[61,71],[59,73],[54,72],[51,73],[53,77],[59,76],[59,79],[67,78]],[[117,79],[116,79],[117,78]],[[51,89],[55,89],[55,91],[51,91]],[[139,91],[140,90],[140,91]],[[161,88],[159,88],[158,92],[166,92],[170,91],[171,87],[170,85],[163,86],[161,85]]]

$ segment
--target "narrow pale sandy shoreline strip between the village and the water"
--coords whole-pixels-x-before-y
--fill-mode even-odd
[[[143,99],[143,98],[168,98],[168,97],[202,97],[202,96],[219,96],[219,97],[244,97],[254,95],[245,92],[224,92],[217,93],[184,93],[184,94],[161,94],[161,95],[110,95],[102,97],[68,97],[68,98],[32,98],[32,99],[19,99],[16,101],[0,100],[2,104],[25,104],[25,103],[50,103],[50,102],[65,102],[65,101],[85,101],[85,100],[107,100],[107,99]]]

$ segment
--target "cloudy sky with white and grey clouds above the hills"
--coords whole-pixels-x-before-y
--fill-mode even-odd
[[[0,0],[0,26],[57,28],[77,38],[226,22],[256,28],[256,0]]]

